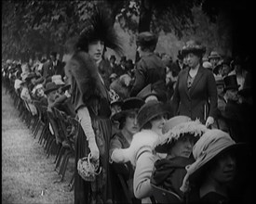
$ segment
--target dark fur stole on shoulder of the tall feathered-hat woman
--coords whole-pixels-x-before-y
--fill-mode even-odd
[[[85,101],[91,96],[101,97],[102,83],[97,65],[94,60],[89,57],[88,53],[83,51],[74,53],[71,59],[67,61],[65,69],[65,71],[74,77]]]

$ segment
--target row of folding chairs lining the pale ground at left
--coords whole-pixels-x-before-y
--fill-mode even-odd
[[[43,106],[39,101],[33,101],[37,110],[37,114],[33,115],[27,102],[20,98],[20,92],[14,89],[13,84],[14,82],[11,81],[4,83],[7,90],[6,93],[11,96],[14,107],[19,110],[20,120],[32,131],[34,139],[38,137],[38,143],[44,147],[46,157],[55,157],[53,162],[55,164],[54,170],[60,176],[58,182],[62,182],[69,161],[71,158],[74,158],[74,137],[78,132],[79,122],[57,108],[53,108],[52,112],[48,111],[47,107]],[[57,129],[53,128],[53,132],[51,132],[49,124],[53,127],[53,121],[56,121],[55,125]],[[63,137],[62,143],[57,144],[57,134]],[[74,189],[74,174],[68,185],[70,186],[70,190]]]

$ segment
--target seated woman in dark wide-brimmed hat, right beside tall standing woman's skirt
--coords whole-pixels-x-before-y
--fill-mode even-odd
[[[144,101],[138,97],[129,97],[124,100],[121,105],[121,111],[115,113],[113,115],[112,120],[119,122],[119,131],[115,133],[110,141],[110,163],[112,163],[111,167],[113,168],[115,175],[116,173],[120,174],[125,181],[127,181],[129,195],[130,198],[134,198],[133,190],[132,190],[132,179],[134,169],[130,162],[125,162],[123,157],[120,157],[118,153],[118,149],[128,148],[133,134],[138,133],[139,126],[137,124],[137,113],[141,106],[144,104]],[[117,203],[126,203],[128,202],[124,198],[124,192],[122,192],[122,186],[118,182],[118,179],[115,178],[112,180],[114,182],[114,195],[115,201]],[[121,190],[121,192],[120,192]]]

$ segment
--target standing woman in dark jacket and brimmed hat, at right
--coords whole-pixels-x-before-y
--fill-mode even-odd
[[[217,113],[217,89],[213,73],[202,67],[205,47],[188,41],[182,48],[188,67],[181,70],[172,98],[174,114],[213,124]]]

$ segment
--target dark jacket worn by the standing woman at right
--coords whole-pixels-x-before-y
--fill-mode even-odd
[[[217,116],[217,88],[213,73],[199,67],[190,90],[187,87],[189,68],[181,70],[171,101],[174,114],[205,122]]]

